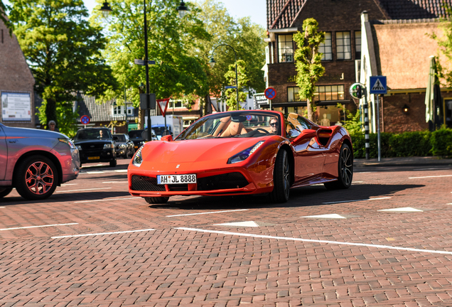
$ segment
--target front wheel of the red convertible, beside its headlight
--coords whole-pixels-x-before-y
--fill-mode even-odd
[[[274,188],[269,197],[272,203],[286,203],[289,200],[290,184],[290,164],[287,151],[281,150],[276,156],[273,171]]]

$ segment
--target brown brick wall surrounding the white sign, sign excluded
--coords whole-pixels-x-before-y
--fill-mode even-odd
[[[7,126],[35,127],[33,85],[35,80],[23,56],[16,36],[0,21],[0,92],[28,92],[31,94],[31,122],[0,122]],[[1,104],[0,104],[0,111]]]

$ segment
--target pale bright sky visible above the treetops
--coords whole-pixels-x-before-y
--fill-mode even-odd
[[[96,6],[95,0],[83,0],[88,11]],[[158,1],[158,0],[154,0]],[[251,21],[267,28],[267,11],[265,0],[220,0],[232,17],[249,16]]]

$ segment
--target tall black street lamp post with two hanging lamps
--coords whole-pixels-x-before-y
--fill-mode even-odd
[[[152,0],[151,0],[152,1]],[[182,18],[188,11],[185,3],[181,1],[181,4],[176,8],[179,16]],[[104,2],[102,8],[102,15],[107,18],[112,11],[107,1]],[[148,55],[148,26],[146,20],[146,0],[143,0],[143,13],[144,13],[144,65],[146,66],[146,109],[148,114],[148,141],[152,140],[151,135],[151,101],[149,100],[149,55]],[[126,115],[127,116],[127,115]]]

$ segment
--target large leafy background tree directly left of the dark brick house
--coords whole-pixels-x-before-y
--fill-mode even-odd
[[[204,63],[208,63],[215,47],[221,44],[230,45],[237,53],[237,60],[244,60],[243,67],[248,76],[244,91],[251,89],[258,92],[264,91],[264,72],[261,69],[265,64],[264,38],[267,37],[265,29],[252,23],[249,18],[240,18],[236,21],[217,0],[204,0],[198,4],[198,8],[201,10],[199,18],[203,21],[205,30],[211,38],[200,41],[198,43],[200,47],[192,49],[191,53],[202,58]],[[235,71],[234,51],[227,46],[221,46],[215,50],[213,56],[216,62],[215,68],[204,66],[205,73],[208,75],[208,91],[203,97],[203,102],[208,102],[210,95],[222,97],[225,85],[232,85],[227,80],[226,73],[230,70],[230,65],[234,65]],[[235,73],[233,80],[235,80]],[[233,104],[234,109],[236,103]],[[204,104],[204,107],[207,111],[208,104]]]

